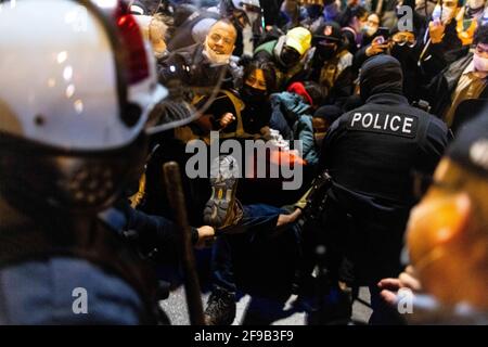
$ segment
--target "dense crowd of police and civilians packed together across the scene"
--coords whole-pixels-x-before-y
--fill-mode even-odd
[[[115,3],[0,1],[0,323],[166,322],[168,162],[206,324],[232,324],[237,293],[296,294],[310,324],[347,324],[361,286],[371,324],[410,320],[406,288],[432,313],[413,322],[487,323],[485,0]],[[18,18],[42,27],[36,44]],[[188,149],[216,133],[247,160],[218,153],[189,177]],[[259,159],[299,169],[298,189]]]

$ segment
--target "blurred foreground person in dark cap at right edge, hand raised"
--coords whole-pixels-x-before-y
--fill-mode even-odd
[[[378,283],[394,306],[400,288],[418,292],[409,323],[488,322],[488,118],[483,112],[460,130],[434,177],[419,176],[427,184],[418,185],[427,191],[408,224],[412,267]],[[422,310],[415,304],[425,294],[435,301]]]

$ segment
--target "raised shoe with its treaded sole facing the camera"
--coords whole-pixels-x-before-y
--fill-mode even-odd
[[[242,219],[241,204],[235,198],[239,165],[231,155],[220,156],[210,168],[211,195],[205,205],[205,224],[222,230],[239,223]]]

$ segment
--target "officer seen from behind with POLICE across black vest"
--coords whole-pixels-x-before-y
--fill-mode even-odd
[[[323,142],[320,165],[333,184],[321,242],[331,278],[369,285],[371,322],[383,323],[387,317],[377,306],[375,284],[401,270],[403,231],[415,203],[411,172],[435,169],[448,129],[408,104],[395,57],[377,55],[362,65],[360,94],[364,105],[338,118]]]

